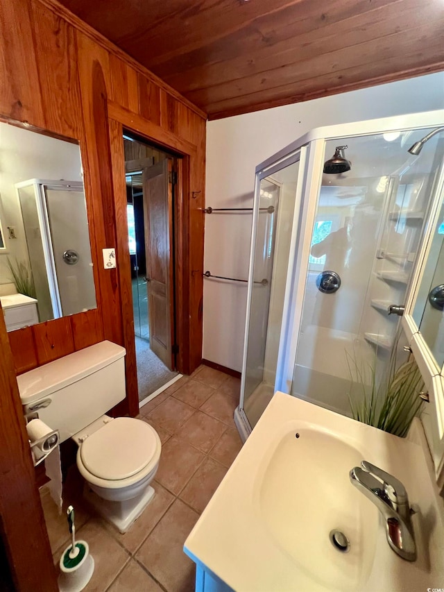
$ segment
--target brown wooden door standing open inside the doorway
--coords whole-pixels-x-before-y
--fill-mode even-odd
[[[173,162],[143,169],[150,348],[173,369]]]

